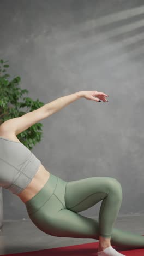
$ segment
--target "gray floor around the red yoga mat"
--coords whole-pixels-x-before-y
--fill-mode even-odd
[[[97,219],[97,216],[90,218]],[[144,235],[144,215],[119,216],[115,228]],[[0,231],[0,255],[79,245],[97,240],[54,237],[39,230],[30,219],[5,220]]]

